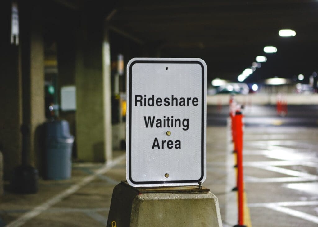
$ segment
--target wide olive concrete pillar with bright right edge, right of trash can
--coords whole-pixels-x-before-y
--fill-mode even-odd
[[[82,17],[76,54],[77,154],[83,161],[111,159],[110,50],[104,20]]]

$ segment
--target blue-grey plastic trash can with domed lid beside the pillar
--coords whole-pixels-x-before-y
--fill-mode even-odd
[[[45,123],[45,179],[68,179],[72,175],[74,137],[65,120]]]

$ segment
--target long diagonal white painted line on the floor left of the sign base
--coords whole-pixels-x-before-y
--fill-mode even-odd
[[[58,202],[62,201],[64,198],[72,195],[74,192],[79,190],[84,185],[88,184],[89,182],[93,181],[98,175],[104,174],[107,171],[109,171],[112,167],[114,167],[116,164],[119,164],[122,160],[126,158],[126,154],[123,154],[117,158],[115,158],[112,162],[108,162],[105,164],[103,168],[100,168],[94,172],[93,175],[84,177],[81,181],[78,183],[72,185],[70,188],[66,189],[65,191],[62,191],[58,195],[52,197],[51,199],[47,200],[43,204],[40,204],[33,208],[31,211],[25,213],[21,217],[17,218],[16,220],[10,222],[7,227],[19,227],[26,223],[28,220],[32,219],[33,217],[38,216],[43,211],[49,209],[54,204],[57,204]]]

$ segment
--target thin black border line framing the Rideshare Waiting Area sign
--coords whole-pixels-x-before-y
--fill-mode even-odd
[[[131,110],[132,110],[132,68],[136,63],[178,63],[178,64],[199,64],[202,68],[202,109],[201,109],[201,177],[198,180],[174,180],[174,181],[134,181],[131,177]],[[171,61],[171,60],[135,60],[129,65],[129,180],[133,184],[181,184],[181,183],[199,183],[204,178],[204,103],[205,103],[205,92],[204,92],[204,65],[200,61]]]

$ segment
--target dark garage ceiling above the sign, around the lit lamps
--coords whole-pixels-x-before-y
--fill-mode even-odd
[[[207,63],[210,81],[236,81],[258,55],[266,56],[267,62],[246,82],[298,74],[306,80],[318,71],[318,0],[140,0],[118,1],[111,7],[106,1],[95,2],[105,7],[112,30],[142,43],[150,50],[148,57],[200,57]],[[297,34],[280,37],[280,29]],[[266,45],[278,52],[265,54]]]

